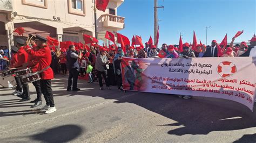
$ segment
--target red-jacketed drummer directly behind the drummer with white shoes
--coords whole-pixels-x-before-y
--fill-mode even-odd
[[[18,51],[17,51],[17,62],[14,63],[13,66],[15,68],[18,68],[18,67],[22,67],[23,63],[28,62],[29,55],[28,55],[28,53],[26,53],[26,51],[24,49],[25,41],[21,38],[17,38],[15,41],[16,41],[16,47],[18,48]],[[22,98],[20,100],[20,102],[29,101],[30,100],[29,85],[24,84],[22,81],[21,81],[21,83],[22,83],[23,93],[18,94],[17,96],[19,98]]]

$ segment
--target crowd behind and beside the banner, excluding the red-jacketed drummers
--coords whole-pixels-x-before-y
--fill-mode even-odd
[[[197,45],[195,50],[191,49],[191,45],[187,42],[182,46],[182,52],[178,47],[173,45],[163,44],[160,48],[155,45],[145,43],[145,48],[126,46],[126,53],[124,53],[121,47],[115,47],[114,45],[99,46],[97,44],[91,44],[90,48],[81,49],[76,51],[74,45],[70,45],[67,53],[62,52],[60,56],[67,58],[67,67],[69,68],[69,84],[67,90],[80,90],[77,88],[77,78],[79,76],[89,76],[89,83],[99,82],[99,89],[103,90],[103,79],[106,84],[107,90],[110,90],[110,86],[117,85],[118,90],[122,88],[122,73],[120,68],[120,62],[123,56],[129,58],[204,58],[204,57],[234,57],[234,56],[255,56],[255,51],[251,52],[251,49],[256,46],[256,37],[250,40],[250,47],[245,41],[242,41],[240,45],[233,46],[235,38],[232,39],[230,45],[224,47],[219,45],[216,40],[212,40],[211,46]],[[222,55],[219,55],[218,51],[221,50]],[[251,53],[250,53],[251,52]],[[63,60],[66,61],[66,60]],[[72,82],[73,79],[73,82]],[[71,84],[73,83],[73,84]],[[191,96],[179,96],[184,99],[191,98]]]

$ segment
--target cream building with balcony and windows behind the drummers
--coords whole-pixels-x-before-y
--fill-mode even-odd
[[[97,34],[104,39],[105,32],[124,28],[124,17],[117,16],[117,8],[124,0],[110,0],[105,12],[97,10]],[[1,0],[0,45],[14,45],[17,27],[28,34],[50,35],[59,41],[81,41],[83,34],[95,37],[93,0]]]

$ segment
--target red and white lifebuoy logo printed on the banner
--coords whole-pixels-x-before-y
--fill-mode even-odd
[[[221,77],[227,77],[237,72],[237,67],[232,62],[224,61],[218,65],[217,72]]]

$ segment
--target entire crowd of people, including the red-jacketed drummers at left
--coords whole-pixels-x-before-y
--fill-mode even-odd
[[[46,113],[56,111],[51,89],[51,79],[54,74],[62,71],[63,75],[69,74],[67,91],[79,91],[77,87],[78,76],[86,77],[88,83],[98,82],[99,89],[103,90],[117,85],[117,90],[123,91],[121,61],[122,57],[129,58],[205,58],[205,57],[234,57],[234,56],[256,56],[256,37],[250,41],[250,46],[242,41],[240,45],[234,45],[235,38],[230,45],[219,45],[212,40],[210,46],[197,45],[194,50],[187,42],[182,47],[163,44],[160,48],[145,43],[145,48],[138,46],[117,47],[114,45],[99,46],[90,44],[90,47],[77,50],[75,45],[69,45],[68,49],[55,50],[46,43],[47,39],[36,35],[36,39],[24,41],[16,39],[16,46],[11,47],[10,68],[30,68],[32,73],[41,75],[40,81],[33,82],[37,91],[37,98],[31,108],[42,105],[42,94],[46,105],[42,108]],[[36,41],[36,42],[35,42]],[[124,53],[125,51],[125,53]],[[219,52],[221,51],[221,52]],[[1,49],[0,49],[0,52]],[[221,53],[221,55],[219,55]],[[1,53],[3,56],[4,52]],[[1,57],[1,60],[5,60]],[[21,102],[29,101],[29,86],[23,83],[19,77],[15,77],[17,87],[13,93],[22,98]],[[191,96],[180,95],[180,98],[189,99]]]

